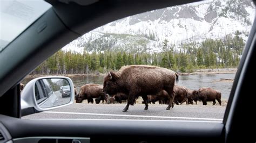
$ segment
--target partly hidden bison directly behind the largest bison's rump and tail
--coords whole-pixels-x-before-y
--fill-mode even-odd
[[[173,88],[173,94],[174,94],[174,103],[177,105],[182,104],[183,102],[187,103],[187,88],[180,86],[180,85],[174,85]]]

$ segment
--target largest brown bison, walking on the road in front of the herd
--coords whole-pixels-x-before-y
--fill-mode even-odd
[[[178,74],[166,68],[144,65],[124,66],[117,72],[110,71],[104,77],[104,92],[110,95],[123,92],[128,95],[127,105],[123,109],[123,112],[126,112],[138,96],[142,96],[147,110],[149,106],[147,95],[156,95],[159,91],[165,90],[171,101],[166,110],[170,110],[171,106],[173,107],[175,80],[178,81]]]

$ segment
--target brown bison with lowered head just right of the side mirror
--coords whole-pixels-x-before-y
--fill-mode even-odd
[[[106,94],[103,92],[103,85],[99,84],[85,84],[80,88],[78,95],[76,95],[76,103],[81,103],[84,99],[87,99],[88,103],[93,103],[93,98],[101,97],[106,101]]]

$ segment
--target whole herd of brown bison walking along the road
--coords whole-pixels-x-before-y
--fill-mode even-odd
[[[178,82],[178,74],[166,68],[155,66],[133,65],[124,66],[120,70],[110,71],[104,77],[104,84],[85,84],[75,96],[76,103],[81,103],[87,99],[88,103],[122,103],[127,101],[126,112],[129,105],[136,103],[139,96],[143,98],[145,110],[148,103],[168,104],[166,110],[184,102],[193,104],[193,101],[202,101],[203,105],[207,101],[215,100],[221,105],[221,93],[212,88],[200,88],[199,90],[187,89],[184,86],[175,85]]]

